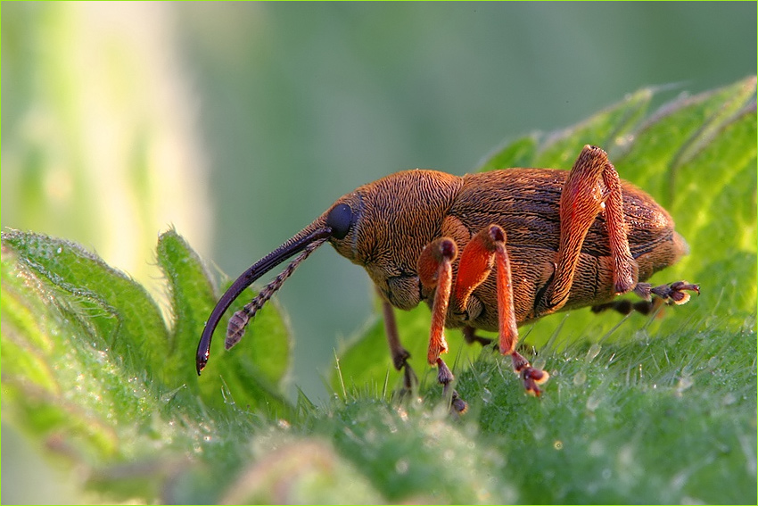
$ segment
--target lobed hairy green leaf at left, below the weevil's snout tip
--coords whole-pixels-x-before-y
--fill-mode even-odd
[[[268,354],[219,353],[223,372],[205,385],[197,377],[194,350],[216,295],[173,230],[158,248],[177,318],[170,332],[143,287],[80,246],[19,231],[4,232],[2,245],[4,420],[61,447],[88,470],[90,488],[154,501],[181,463],[203,497],[209,477],[230,479],[246,455],[232,449],[255,423],[291,411],[281,393],[286,337],[264,340]],[[249,339],[285,332],[276,307],[256,323]],[[249,409],[260,414],[250,418]],[[185,462],[219,454],[210,473]]]

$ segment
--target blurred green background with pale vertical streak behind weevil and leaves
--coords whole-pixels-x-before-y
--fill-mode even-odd
[[[639,87],[660,86],[661,103],[756,71],[752,2],[4,3],[2,14],[2,226],[78,241],[157,297],[153,250],[170,224],[234,278],[393,171],[463,174],[504,139],[567,127]],[[367,276],[327,248],[277,297],[292,385],[324,397],[333,349],[372,311]],[[41,486],[54,471],[7,429],[4,502],[81,500]]]

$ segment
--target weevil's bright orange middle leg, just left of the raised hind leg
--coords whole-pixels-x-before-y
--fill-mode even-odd
[[[515,320],[513,284],[511,265],[506,249],[506,231],[498,225],[482,230],[474,237],[461,253],[458,276],[456,280],[456,300],[461,308],[477,286],[495,269],[498,289],[498,339],[500,353],[510,355],[515,373],[518,374],[532,395],[540,395],[538,385],[548,380],[548,373],[531,367],[529,361],[515,351],[518,342],[518,329]]]

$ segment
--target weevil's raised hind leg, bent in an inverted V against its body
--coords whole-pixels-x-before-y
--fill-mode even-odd
[[[546,294],[537,301],[538,314],[558,311],[568,301],[581,246],[601,212],[605,213],[614,259],[614,292],[630,291],[638,277],[638,266],[626,235],[619,175],[605,151],[584,146],[566,178],[559,205],[561,234],[556,272]]]

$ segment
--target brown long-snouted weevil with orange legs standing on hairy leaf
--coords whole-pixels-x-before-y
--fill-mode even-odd
[[[243,290],[297,255],[229,319],[227,349],[310,253],[325,242],[362,266],[383,301],[391,360],[410,389],[416,375],[400,344],[393,308],[427,303],[432,310],[427,361],[451,411],[466,411],[442,360],[444,328],[462,328],[468,343],[489,344],[477,329],[498,332],[526,392],[539,396],[548,372],[516,350],[517,328],[556,311],[592,306],[627,311],[614,302],[633,291],[686,303],[698,285],[645,283],[688,253],[671,216],[653,197],[619,178],[605,151],[586,145],[571,170],[507,169],[453,176],[406,170],[343,195],[308,227],[246,270],[221,296],[197,347],[200,374],[219,320]],[[616,306],[615,304],[618,303]]]

